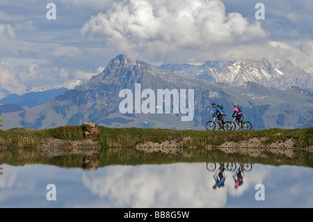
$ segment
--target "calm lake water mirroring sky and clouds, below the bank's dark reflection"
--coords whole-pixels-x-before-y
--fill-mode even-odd
[[[239,164],[232,164],[225,167],[225,186],[213,189],[219,166],[116,165],[83,171],[3,164],[0,207],[313,207],[312,168],[249,164],[243,184],[235,188]],[[55,187],[47,189],[48,184]],[[256,189],[257,184],[264,187]],[[56,200],[47,200],[47,193]]]

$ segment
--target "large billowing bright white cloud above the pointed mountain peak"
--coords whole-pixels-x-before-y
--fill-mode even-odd
[[[81,35],[102,35],[123,53],[150,54],[254,42],[266,32],[239,13],[226,15],[220,0],[129,0],[91,17]]]

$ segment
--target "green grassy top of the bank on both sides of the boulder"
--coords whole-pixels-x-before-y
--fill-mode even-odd
[[[151,141],[182,141],[190,137],[186,145],[204,148],[206,145],[221,145],[227,141],[245,141],[254,137],[266,137],[265,143],[294,138],[297,147],[313,145],[313,127],[302,129],[263,129],[249,131],[204,131],[174,129],[108,128],[99,127],[99,142],[103,148],[134,148],[138,143]],[[57,127],[54,129],[13,128],[0,130],[0,147],[35,148],[42,138],[61,138],[65,140],[84,140],[81,126]]]

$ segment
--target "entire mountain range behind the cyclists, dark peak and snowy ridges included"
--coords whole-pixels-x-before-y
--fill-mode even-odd
[[[297,73],[294,75],[296,78],[291,77],[292,72]],[[141,93],[149,91],[149,97],[142,94],[143,97],[136,100],[135,84],[141,85]],[[3,106],[6,111],[1,113],[0,118],[5,129],[43,129],[81,125],[82,122],[95,122],[106,127],[205,129],[205,123],[211,120],[214,112],[211,103],[216,102],[225,106],[226,120],[230,120],[233,113],[232,104],[239,104],[245,120],[252,122],[253,129],[312,127],[311,86],[310,75],[291,63],[279,65],[271,64],[266,59],[245,59],[157,67],[119,55],[88,83],[66,90],[38,106],[20,106],[12,111]],[[194,90],[193,104],[189,104],[194,106],[193,120],[182,121],[184,113],[174,111],[174,96],[170,100],[170,113],[164,110],[161,113],[136,113],[136,104],[131,107],[132,112],[121,113],[120,104],[125,100],[125,97],[120,97],[121,90],[132,92],[134,102],[143,106],[154,98],[151,92],[156,93],[154,96],[157,100],[160,89],[177,90],[180,95],[182,90]],[[181,103],[182,97],[179,98]],[[152,104],[159,106],[157,102],[149,103]],[[154,107],[149,109],[153,110]]]

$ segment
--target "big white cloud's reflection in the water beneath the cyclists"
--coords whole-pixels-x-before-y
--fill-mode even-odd
[[[213,173],[203,163],[109,166],[83,174],[82,180],[105,207],[223,207],[227,192],[241,196],[250,185],[262,182],[266,170],[256,168],[245,175],[238,190],[230,172],[224,188],[212,189]]]

